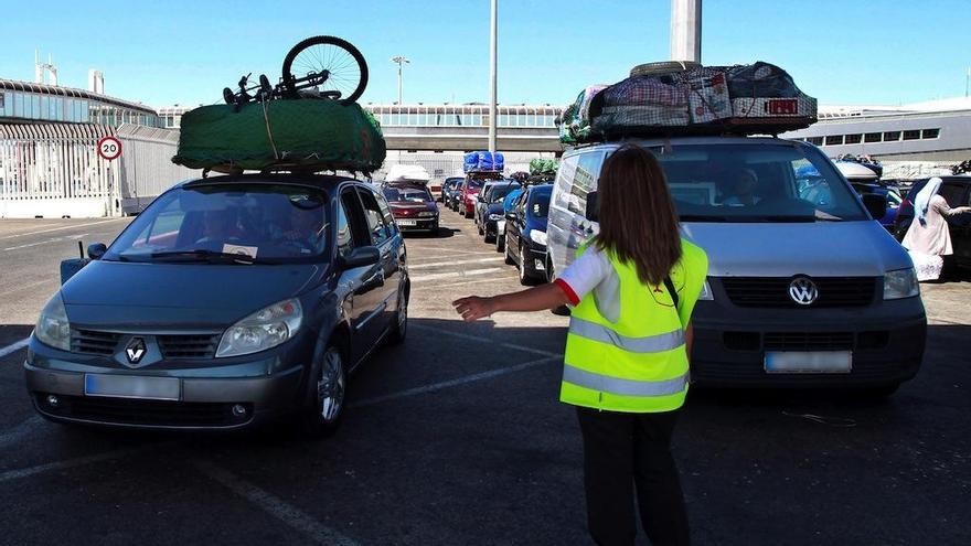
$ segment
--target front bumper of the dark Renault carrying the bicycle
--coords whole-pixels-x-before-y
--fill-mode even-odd
[[[58,422],[106,427],[228,430],[255,426],[292,414],[302,403],[303,365],[282,367],[290,351],[267,351],[256,358],[220,366],[127,370],[86,355],[74,355],[31,340],[24,363],[26,388],[34,408]],[[268,372],[273,371],[273,372]],[[85,375],[175,377],[178,400],[88,396]],[[49,396],[57,404],[51,404]],[[242,414],[239,409],[244,409]]]

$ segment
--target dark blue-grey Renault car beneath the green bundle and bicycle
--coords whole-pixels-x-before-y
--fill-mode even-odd
[[[36,410],[115,427],[332,432],[349,375],[407,329],[405,246],[373,186],[216,176],[159,196],[51,298]]]

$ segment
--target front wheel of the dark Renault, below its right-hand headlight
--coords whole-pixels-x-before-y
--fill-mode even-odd
[[[313,363],[307,381],[308,396],[300,420],[300,432],[305,438],[328,438],[341,425],[348,383],[345,354],[343,347],[332,344],[324,350],[320,362]]]

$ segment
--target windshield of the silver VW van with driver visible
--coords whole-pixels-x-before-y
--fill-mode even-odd
[[[674,146],[654,150],[683,222],[867,220],[852,189],[809,146]]]

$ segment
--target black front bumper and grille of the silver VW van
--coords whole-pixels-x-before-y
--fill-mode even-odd
[[[691,378],[713,387],[884,387],[913,378],[924,360],[920,298],[853,309],[750,309],[700,301]],[[768,352],[852,353],[850,372],[768,373]]]

